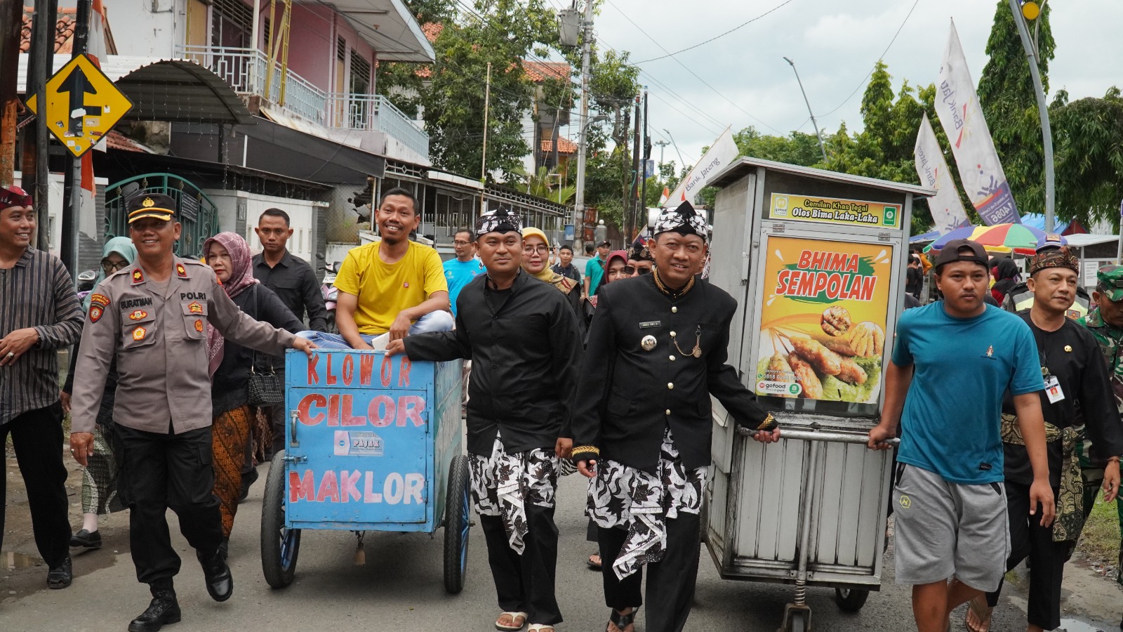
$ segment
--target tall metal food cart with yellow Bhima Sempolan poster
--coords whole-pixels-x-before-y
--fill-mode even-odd
[[[720,173],[710,280],[738,300],[729,362],[783,426],[761,445],[713,401],[703,539],[721,576],[857,611],[880,588],[891,452],[865,446],[902,309],[915,198],[934,191],[741,159]]]

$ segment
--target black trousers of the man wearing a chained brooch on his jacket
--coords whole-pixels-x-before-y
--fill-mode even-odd
[[[667,551],[663,560],[647,566],[647,632],[681,632],[686,626],[694,602],[701,554],[700,521],[694,514],[679,513],[667,521]],[[601,547],[601,577],[604,578],[604,605],[622,611],[643,604],[640,585],[643,569],[617,578],[612,565],[620,554],[628,532],[623,529],[597,529]]]

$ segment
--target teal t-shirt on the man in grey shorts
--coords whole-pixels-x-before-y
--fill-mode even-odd
[[[943,301],[897,320],[893,363],[914,365],[901,415],[897,460],[949,482],[1003,480],[1002,398],[1044,389],[1033,333],[992,305],[955,318]]]

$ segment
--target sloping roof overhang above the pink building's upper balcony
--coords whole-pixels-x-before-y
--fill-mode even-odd
[[[323,1],[323,0],[321,0]],[[378,60],[432,63],[436,54],[402,0],[327,0],[366,39]]]

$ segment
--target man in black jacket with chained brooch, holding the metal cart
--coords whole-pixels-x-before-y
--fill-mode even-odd
[[[647,567],[648,632],[690,616],[710,466],[710,395],[757,441],[779,439],[725,363],[737,303],[699,280],[705,219],[690,202],[655,225],[655,270],[597,295],[573,417],[573,460],[593,479],[609,632],[631,630]]]

